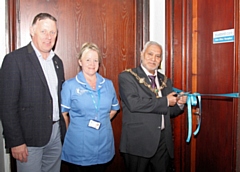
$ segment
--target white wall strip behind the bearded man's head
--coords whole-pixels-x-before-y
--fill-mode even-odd
[[[165,0],[150,1],[150,41],[156,41],[162,45],[163,60],[159,71],[165,74]]]

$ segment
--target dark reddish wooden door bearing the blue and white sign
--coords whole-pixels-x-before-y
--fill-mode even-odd
[[[237,88],[234,42],[213,43],[213,32],[235,29],[234,0],[196,1],[197,91],[232,93]],[[239,32],[239,30],[235,30]],[[196,171],[236,169],[237,99],[202,97],[202,127],[196,137]],[[238,164],[239,165],[239,164]]]

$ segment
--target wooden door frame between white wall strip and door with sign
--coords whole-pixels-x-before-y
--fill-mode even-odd
[[[166,75],[181,90],[191,90],[192,71],[192,1],[165,0],[166,4]],[[176,5],[177,4],[177,5]],[[189,171],[190,144],[186,143],[185,113],[172,120],[174,138],[174,167],[176,171]]]

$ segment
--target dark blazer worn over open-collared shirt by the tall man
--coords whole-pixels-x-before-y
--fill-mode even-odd
[[[58,77],[58,99],[64,82],[61,59],[53,57]],[[40,147],[52,133],[52,97],[31,44],[7,54],[0,69],[0,113],[6,147]],[[59,111],[62,138],[65,123]]]

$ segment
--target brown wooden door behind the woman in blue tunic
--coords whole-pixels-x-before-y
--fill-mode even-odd
[[[8,1],[8,6],[10,50],[30,42],[29,27],[36,14],[50,13],[58,20],[55,52],[63,60],[65,78],[79,72],[77,56],[81,45],[94,42],[103,55],[99,73],[113,81],[117,93],[117,75],[139,63],[143,41],[148,37],[148,28],[143,30],[143,23],[148,23],[145,0],[17,0]],[[112,120],[116,155],[108,171],[124,171],[119,153],[121,113]],[[67,171],[66,166],[62,171]]]

